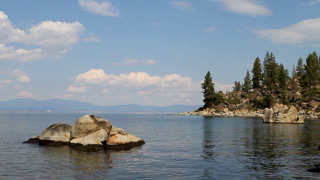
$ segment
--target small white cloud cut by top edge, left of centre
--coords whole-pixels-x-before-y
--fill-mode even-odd
[[[107,0],[97,2],[94,0],[78,0],[79,5],[83,10],[105,16],[119,17],[120,12]]]

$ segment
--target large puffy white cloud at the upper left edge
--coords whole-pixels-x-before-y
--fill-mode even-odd
[[[84,31],[78,22],[41,21],[29,29],[21,30],[11,24],[8,16],[0,11],[0,59],[32,61],[60,58],[78,41]],[[6,43],[37,46],[32,49],[15,48]]]

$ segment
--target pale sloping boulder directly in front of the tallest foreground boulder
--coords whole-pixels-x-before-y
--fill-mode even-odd
[[[78,150],[103,150],[108,133],[100,129],[92,134],[70,140],[70,146]]]

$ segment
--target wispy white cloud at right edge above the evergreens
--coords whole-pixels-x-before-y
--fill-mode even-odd
[[[320,18],[302,20],[284,28],[252,29],[252,32],[275,43],[320,46]]]

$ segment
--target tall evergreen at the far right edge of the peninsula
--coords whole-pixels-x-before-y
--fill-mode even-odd
[[[316,85],[319,84],[319,67],[318,67],[318,57],[315,52],[309,55],[305,59],[305,64],[303,68],[303,75],[300,80],[300,85],[303,89],[304,97],[308,98],[308,101],[317,93],[318,89]]]

